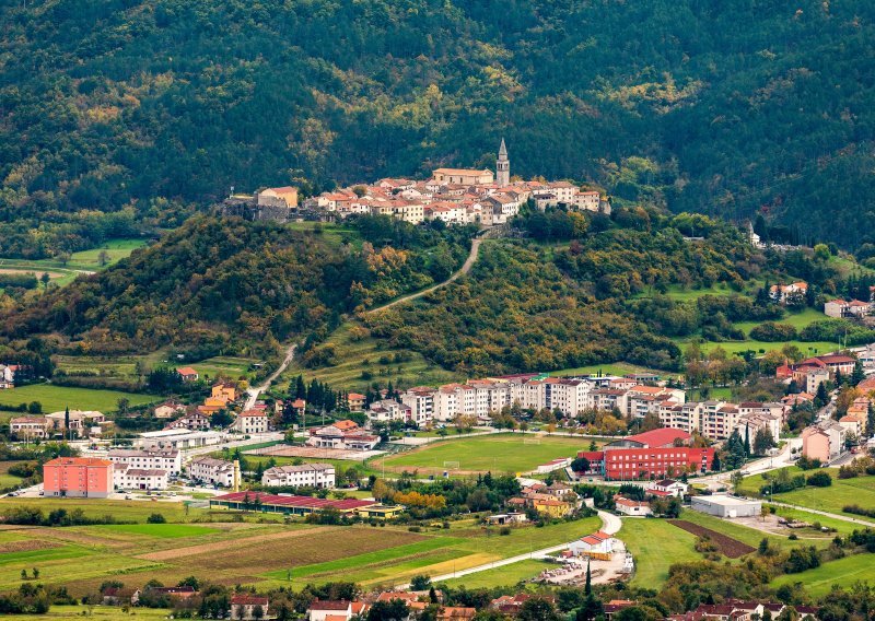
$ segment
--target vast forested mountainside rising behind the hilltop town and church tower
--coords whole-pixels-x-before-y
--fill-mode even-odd
[[[875,242],[866,0],[7,0],[0,21],[0,255],[173,227],[231,186],[493,165],[502,136],[524,176]]]

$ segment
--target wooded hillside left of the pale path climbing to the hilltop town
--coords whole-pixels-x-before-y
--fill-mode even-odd
[[[359,218],[341,239],[318,227],[195,216],[150,248],[62,289],[24,292],[0,310],[0,339],[68,353],[153,351],[199,359],[273,355],[318,339],[341,314],[445,279],[472,231]],[[3,344],[0,340],[0,344]]]

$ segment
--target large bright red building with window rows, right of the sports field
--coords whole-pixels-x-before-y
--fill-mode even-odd
[[[690,435],[676,429],[658,429],[611,442],[604,450],[582,450],[590,474],[606,480],[631,481],[704,472],[714,464],[713,448],[692,448]]]

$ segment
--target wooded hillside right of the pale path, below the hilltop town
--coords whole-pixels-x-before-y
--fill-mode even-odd
[[[614,361],[680,370],[689,361],[677,339],[744,341],[736,326],[744,321],[781,331],[789,313],[821,308],[829,295],[867,294],[875,283],[862,273],[842,278],[810,250],[755,249],[737,229],[699,214],[548,210],[517,223],[534,239],[486,242],[470,278],[363,316],[370,333],[470,376]],[[692,227],[701,237],[684,236]],[[810,283],[797,307],[768,294],[770,279],[797,278]],[[678,298],[669,289],[701,294]],[[875,338],[842,319],[814,321],[801,335],[789,328],[789,337],[763,340],[835,339],[845,330],[852,344]]]

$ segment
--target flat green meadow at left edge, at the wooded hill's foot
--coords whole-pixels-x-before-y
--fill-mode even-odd
[[[121,390],[101,390],[96,388],[79,388],[74,386],[56,386],[52,384],[32,384],[4,390],[0,395],[0,409],[3,406],[18,406],[39,401],[44,412],[57,412],[69,407],[71,410],[97,410],[112,412],[117,409],[119,399],[128,399],[131,406],[141,406],[159,401],[161,397]]]

